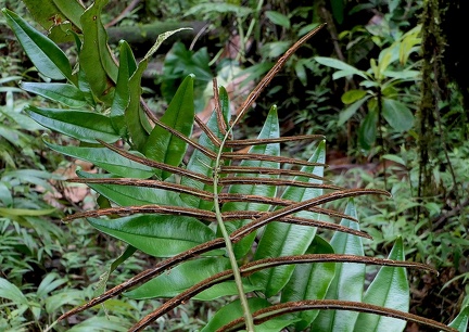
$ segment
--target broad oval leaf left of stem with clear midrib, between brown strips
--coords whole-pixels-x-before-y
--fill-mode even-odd
[[[214,232],[195,218],[134,215],[117,219],[88,218],[98,230],[155,256],[169,257],[211,241]]]

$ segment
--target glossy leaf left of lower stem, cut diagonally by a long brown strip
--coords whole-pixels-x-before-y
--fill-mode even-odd
[[[201,282],[218,272],[230,269],[229,259],[226,257],[203,257],[185,261],[168,272],[157,276],[138,289],[125,293],[130,298],[173,297],[190,286]],[[244,283],[246,292],[255,288]],[[233,281],[216,284],[193,298],[211,301],[220,296],[236,295],[238,290]]]

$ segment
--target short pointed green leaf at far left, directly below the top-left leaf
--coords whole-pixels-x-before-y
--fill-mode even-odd
[[[53,82],[22,82],[20,87],[50,100],[60,102],[68,107],[87,107],[88,102],[84,92],[73,85]]]

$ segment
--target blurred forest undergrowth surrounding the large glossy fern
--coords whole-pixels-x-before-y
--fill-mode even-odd
[[[2,1],[1,7],[30,17],[22,3],[13,2]],[[195,0],[111,1],[103,20],[113,47],[126,39],[137,56],[143,56],[154,41],[154,35],[142,31],[193,26],[180,42],[169,40],[170,49],[160,51],[149,65],[144,97],[163,112],[182,79],[194,73],[195,107],[202,117],[212,111],[206,106],[212,77],[239,105],[279,55],[312,28],[328,23],[319,38],[289,60],[237,136],[251,138],[258,132],[270,105],[277,104],[282,136],[327,137],[331,164],[327,176],[334,183],[389,190],[392,200],[357,202],[363,207],[360,227],[373,237],[365,243],[367,254],[385,257],[402,237],[407,259],[440,271],[440,276],[409,272],[410,311],[449,322],[469,303],[469,85],[459,75],[467,64],[459,59],[460,42],[455,41],[455,25],[464,23],[455,17],[466,8],[464,1],[430,0],[220,1],[217,5]],[[77,167],[92,171],[92,165],[63,158],[38,139],[48,135],[56,143],[74,143],[25,116],[26,102],[53,105],[18,89],[21,80],[39,81],[41,75],[4,21],[0,34],[4,39],[0,44],[0,297],[4,298],[0,330],[36,331],[55,320],[64,305],[91,297],[104,267],[123,244],[98,234],[85,221],[60,221],[93,206],[93,194],[86,187],[60,181]],[[66,41],[63,46],[73,55]],[[287,143],[283,151],[308,158],[312,149]],[[151,263],[130,258],[110,284]],[[81,325],[87,331],[87,324],[125,329],[128,320],[156,305],[114,299],[109,308],[115,327],[88,314],[90,319],[74,329]],[[167,318],[170,325],[159,321],[161,330],[193,331],[213,315],[212,306],[219,304],[181,307]]]

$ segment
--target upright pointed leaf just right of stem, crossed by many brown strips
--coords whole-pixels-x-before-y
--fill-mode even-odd
[[[280,128],[277,116],[277,106],[272,106],[270,112],[267,115],[267,118],[264,123],[264,127],[258,135],[258,139],[271,139],[278,138],[280,136]],[[280,144],[262,144],[254,145],[250,149],[250,153],[258,153],[271,156],[280,155]],[[269,167],[269,168],[279,168],[280,165],[278,163],[268,162],[268,161],[242,161],[240,166],[250,166],[250,167]],[[244,175],[241,175],[244,176]],[[250,175],[258,178],[276,178],[275,175]],[[238,193],[238,194],[246,194],[246,195],[259,195],[265,197],[274,197],[277,194],[277,188],[275,186],[261,186],[261,184],[232,184],[229,188],[229,193]],[[259,203],[245,203],[245,202],[229,202],[224,204],[223,212],[227,210],[262,210],[266,212],[269,209],[269,205],[259,204]],[[228,233],[231,233],[236,229],[244,226],[251,220],[240,220],[225,224],[225,227]],[[256,237],[256,232],[252,232],[238,243],[233,245],[234,253],[238,258],[243,257],[250,250]]]

